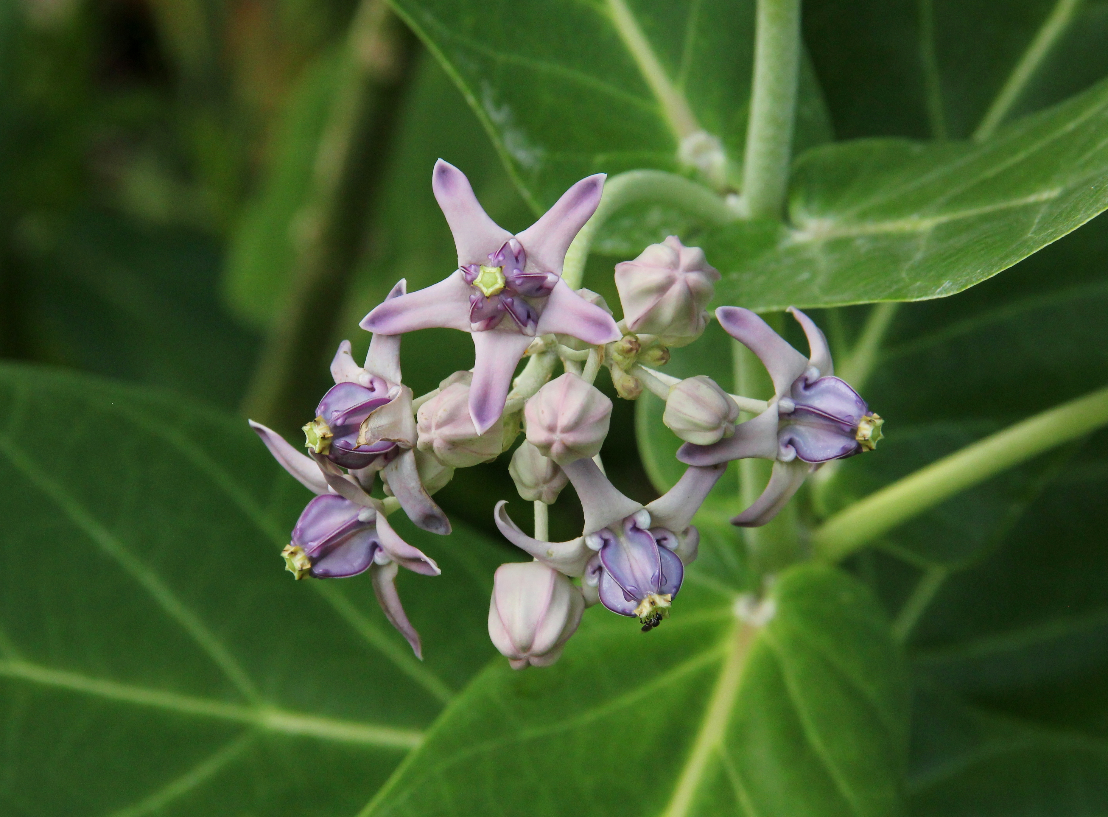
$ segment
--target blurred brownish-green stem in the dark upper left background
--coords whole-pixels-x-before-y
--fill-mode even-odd
[[[310,228],[243,405],[275,428],[298,427],[324,385],[315,375],[330,351],[335,316],[362,249],[412,47],[384,0],[362,0],[317,151],[304,219]]]

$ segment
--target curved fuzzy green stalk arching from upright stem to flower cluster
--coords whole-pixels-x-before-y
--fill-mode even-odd
[[[604,185],[604,197],[565,254],[562,279],[571,289],[581,287],[585,262],[596,234],[612,215],[628,204],[640,201],[666,202],[697,216],[706,224],[718,225],[735,221],[727,203],[702,184],[665,171],[628,171],[613,176]]]

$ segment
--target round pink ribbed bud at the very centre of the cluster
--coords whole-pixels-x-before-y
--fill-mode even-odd
[[[538,389],[524,408],[527,441],[560,466],[595,457],[612,421],[612,400],[566,372]]]

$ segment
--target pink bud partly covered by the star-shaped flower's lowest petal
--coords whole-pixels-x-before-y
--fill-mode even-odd
[[[444,466],[469,468],[495,459],[503,439],[503,420],[479,435],[470,417],[470,387],[454,382],[419,408],[420,451]]]

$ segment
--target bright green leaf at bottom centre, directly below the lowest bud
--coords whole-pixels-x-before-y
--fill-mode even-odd
[[[497,661],[362,817],[895,814],[905,676],[864,588],[793,569],[760,629],[694,576],[649,635],[594,607],[555,666]]]

